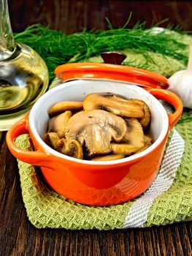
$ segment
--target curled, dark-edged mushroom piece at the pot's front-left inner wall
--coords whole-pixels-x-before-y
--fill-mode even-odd
[[[61,154],[66,154],[69,157],[82,159],[82,146],[77,140],[59,139],[56,132],[48,132],[43,140],[45,143]]]

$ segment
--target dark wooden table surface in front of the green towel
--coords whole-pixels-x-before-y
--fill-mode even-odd
[[[28,221],[18,165],[0,147],[0,255],[192,255],[191,222],[127,230],[39,230]]]

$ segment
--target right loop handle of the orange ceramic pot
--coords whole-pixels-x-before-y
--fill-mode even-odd
[[[145,88],[145,90],[152,94],[156,99],[163,99],[174,106],[174,113],[167,113],[167,116],[169,118],[169,129],[172,129],[172,127],[174,127],[174,125],[177,123],[183,113],[183,102],[181,101],[181,99],[172,91],[151,88]]]

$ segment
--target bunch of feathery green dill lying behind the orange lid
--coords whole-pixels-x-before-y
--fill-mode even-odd
[[[153,27],[154,28],[154,27]],[[34,24],[15,34],[15,40],[29,45],[45,60],[50,73],[50,80],[54,78],[54,69],[60,64],[78,62],[107,50],[132,49],[141,53],[150,51],[170,56],[183,64],[188,62],[186,44],[177,39],[179,32],[169,29],[155,33],[152,29],[145,29],[145,23],[137,23],[132,29],[125,26],[120,29],[107,31],[82,31],[74,34],[64,34],[41,24]],[[171,28],[172,29],[172,28]],[[177,34],[175,34],[177,33]]]

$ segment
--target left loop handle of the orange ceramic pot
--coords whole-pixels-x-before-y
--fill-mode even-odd
[[[8,130],[6,135],[6,142],[9,151],[14,155],[14,157],[20,159],[23,162],[27,162],[31,165],[39,165],[45,161],[48,161],[49,155],[45,151],[38,149],[37,151],[24,151],[15,145],[15,138],[19,135],[28,133],[28,115],[20,119],[17,123]]]

